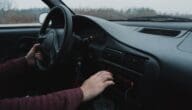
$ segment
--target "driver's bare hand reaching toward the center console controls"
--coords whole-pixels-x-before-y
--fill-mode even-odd
[[[114,85],[110,72],[100,71],[87,79],[81,86],[83,101],[88,101],[102,93],[108,86]]]

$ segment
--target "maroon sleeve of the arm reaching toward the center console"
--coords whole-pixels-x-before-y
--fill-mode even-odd
[[[48,95],[0,100],[0,110],[76,110],[83,98],[80,88]]]

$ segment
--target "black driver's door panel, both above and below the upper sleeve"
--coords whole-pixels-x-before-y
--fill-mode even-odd
[[[0,63],[24,56],[39,35],[39,27],[0,27]],[[2,78],[1,78],[2,79]],[[0,81],[1,98],[28,94],[30,74],[10,76]],[[6,86],[4,86],[6,84]],[[15,89],[17,88],[17,89]],[[14,91],[14,92],[12,92]]]

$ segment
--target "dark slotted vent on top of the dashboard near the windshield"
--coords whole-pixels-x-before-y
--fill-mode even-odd
[[[142,30],[140,30],[140,32],[145,34],[162,35],[162,36],[169,36],[169,37],[176,37],[181,33],[181,31],[177,31],[177,30],[153,29],[153,28],[143,28]]]

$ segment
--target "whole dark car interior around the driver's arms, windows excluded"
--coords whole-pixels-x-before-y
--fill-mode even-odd
[[[115,85],[80,110],[192,108],[191,22],[109,21],[77,15],[61,0],[42,1],[50,11],[41,25],[0,26],[0,62],[37,42],[45,58],[29,73],[1,75],[2,99],[79,87],[107,70]]]

